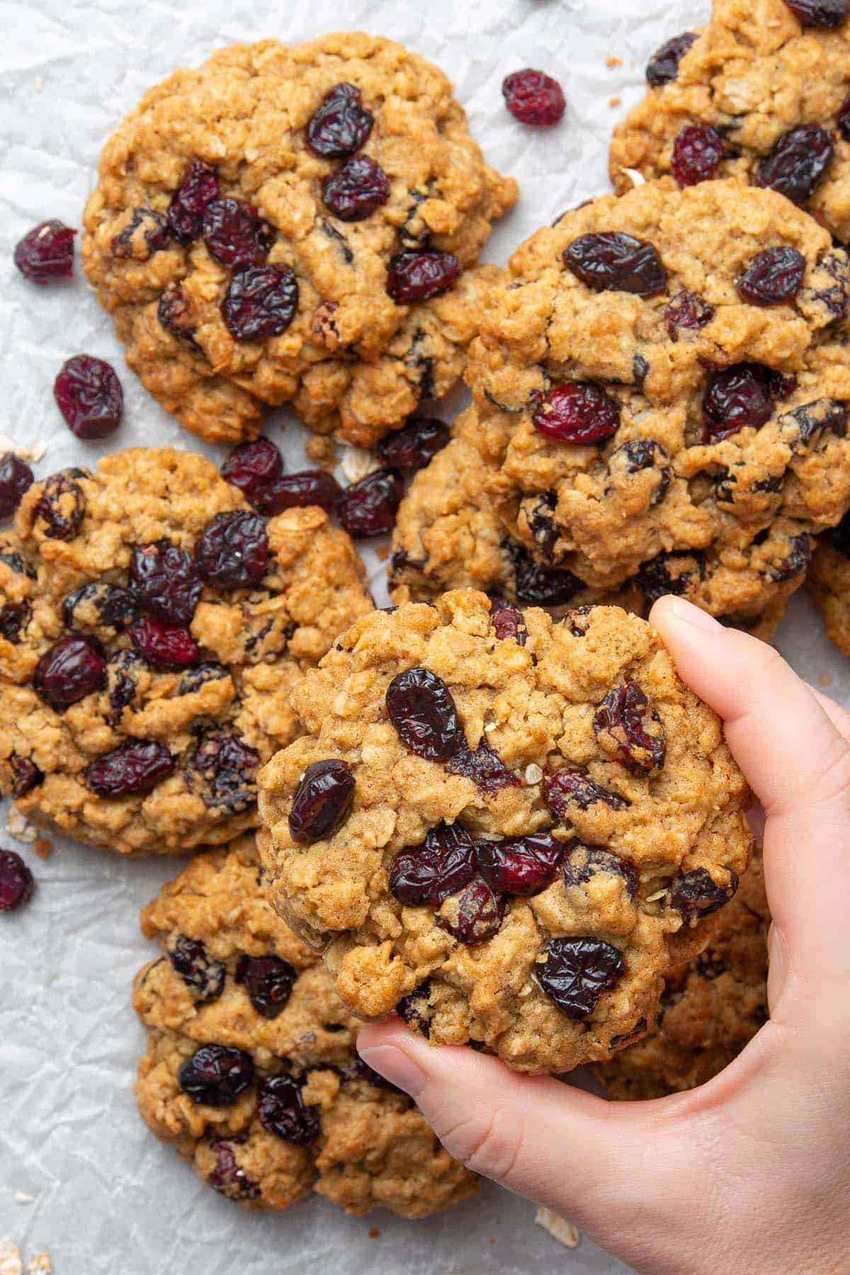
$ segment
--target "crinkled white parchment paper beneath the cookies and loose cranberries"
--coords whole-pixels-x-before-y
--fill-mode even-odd
[[[36,222],[79,226],[102,143],[177,65],[233,41],[345,28],[408,43],[449,73],[488,159],[520,181],[520,204],[486,254],[505,261],[538,226],[608,190],[608,136],[642,93],[647,55],[705,11],[688,0],[0,0],[0,432],[31,446],[43,440],[40,476],[108,446],[214,454],[143,393],[79,272],[66,287],[40,289],[11,266],[13,245]],[[622,65],[607,66],[608,57]],[[521,66],[561,80],[568,108],[557,129],[522,127],[505,111],[502,78]],[[52,402],[60,363],[82,351],[112,361],[124,382],[126,418],[110,444],[76,444]],[[461,402],[455,395],[447,409]],[[278,413],[270,432],[299,468],[301,427]],[[373,553],[370,561],[382,602],[382,567]],[[808,599],[795,601],[780,646],[850,704],[847,666]],[[15,843],[6,834],[0,844]],[[23,853],[38,892],[0,919],[0,1238],[24,1257],[50,1250],[56,1275],[624,1271],[586,1238],[561,1247],[534,1225],[531,1205],[493,1186],[428,1223],[382,1211],[349,1219],[319,1198],[251,1215],[204,1188],[145,1131],[133,1099],[141,1033],[130,983],[149,956],[138,912],[178,864],[119,862],[62,841],[46,863],[32,847]]]

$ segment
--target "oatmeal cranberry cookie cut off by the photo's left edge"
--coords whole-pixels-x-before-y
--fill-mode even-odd
[[[0,533],[0,790],[121,854],[227,841],[292,686],[371,606],[326,514],[266,523],[203,456],[54,474]]]

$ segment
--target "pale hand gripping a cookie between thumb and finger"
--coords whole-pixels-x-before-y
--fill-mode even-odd
[[[608,1103],[398,1020],[358,1048],[446,1149],[641,1275],[850,1271],[850,713],[679,598],[651,622],[765,811],[767,1023],[687,1094]]]

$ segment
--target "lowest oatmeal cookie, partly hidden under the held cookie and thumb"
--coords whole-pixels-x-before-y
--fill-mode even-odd
[[[354,1052],[357,1021],[263,896],[254,836],[198,856],[141,913],[164,955],[136,977],[139,1111],[249,1209],[319,1191],[347,1213],[424,1218],[477,1182]]]

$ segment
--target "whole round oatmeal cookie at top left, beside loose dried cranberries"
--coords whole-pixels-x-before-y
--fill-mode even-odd
[[[147,389],[212,441],[292,403],[368,446],[463,374],[516,182],[446,76],[357,32],[220,50],[101,158],[83,265]]]

